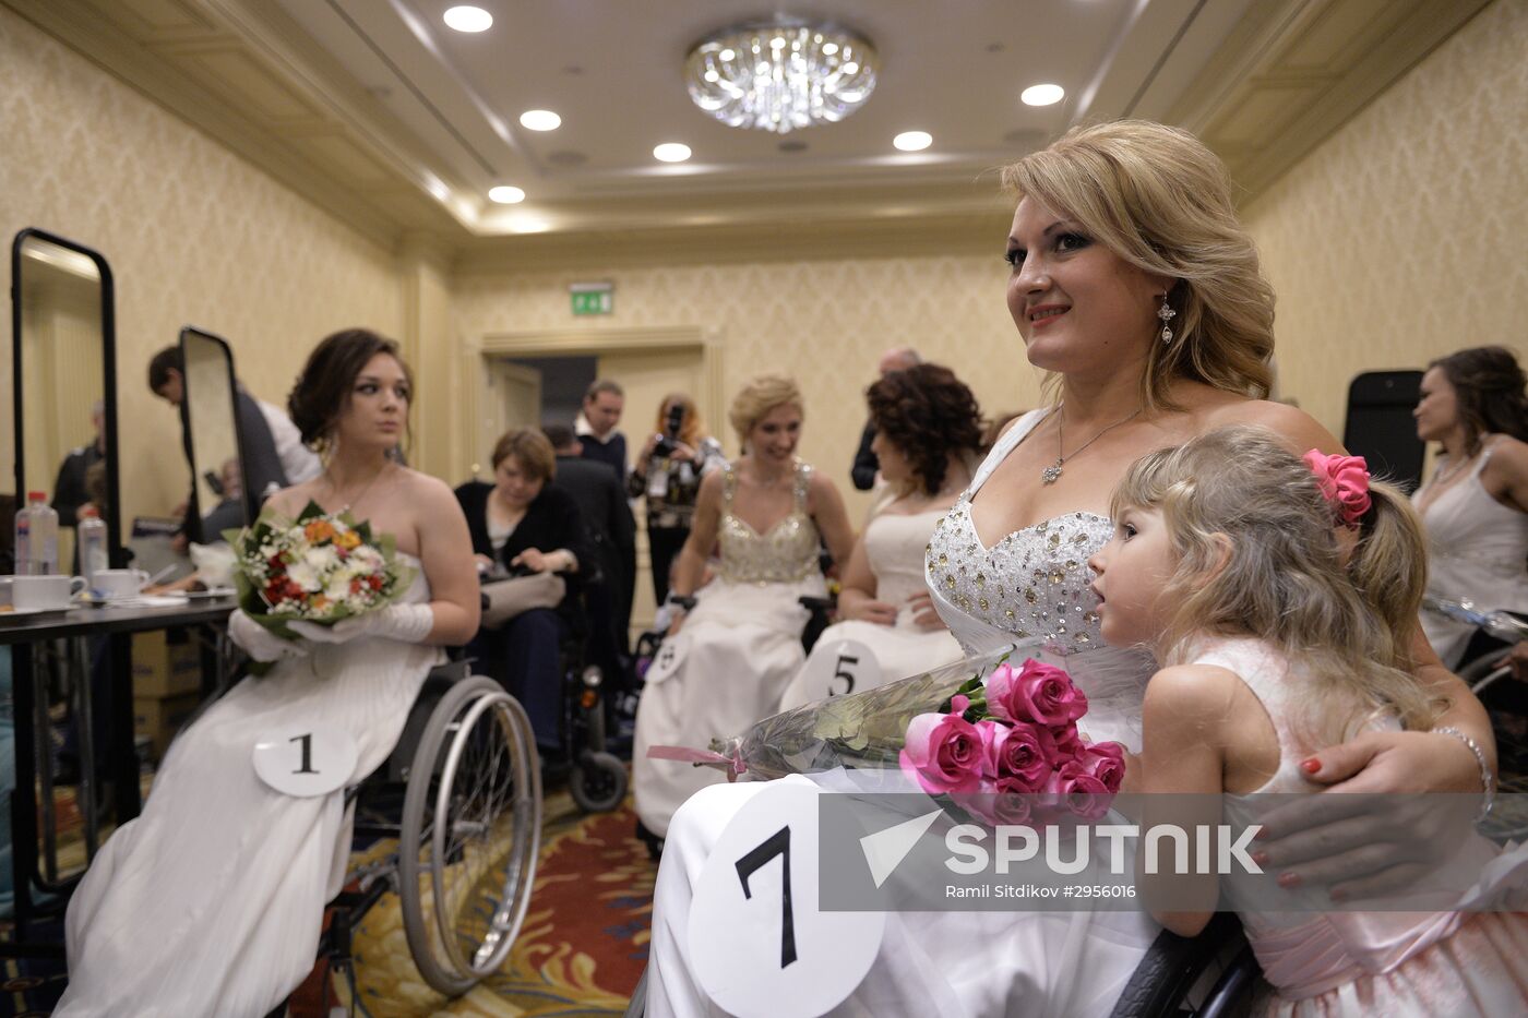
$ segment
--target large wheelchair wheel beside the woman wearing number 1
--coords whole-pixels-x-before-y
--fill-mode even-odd
[[[530,905],[541,766],[503,686],[451,686],[420,737],[403,796],[399,899],[425,981],[455,997],[503,965]]]

